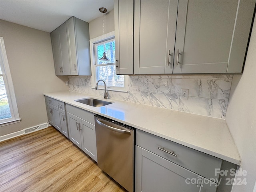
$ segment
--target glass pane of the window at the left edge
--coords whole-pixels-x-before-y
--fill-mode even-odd
[[[0,76],[0,119],[11,118],[3,76]]]

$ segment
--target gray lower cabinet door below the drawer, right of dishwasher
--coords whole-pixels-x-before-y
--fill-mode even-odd
[[[135,192],[200,191],[201,176],[139,146],[135,157]]]

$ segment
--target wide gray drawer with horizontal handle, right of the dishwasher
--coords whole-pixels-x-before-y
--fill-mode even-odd
[[[218,180],[219,174],[215,174],[216,168],[221,168],[222,160],[203,152],[177,144],[170,140],[136,130],[136,145],[145,148],[167,160],[170,160],[192,172],[208,179]],[[169,154],[174,153],[176,156]]]

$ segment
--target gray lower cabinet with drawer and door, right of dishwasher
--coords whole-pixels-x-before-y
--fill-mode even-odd
[[[237,165],[136,130],[135,192],[229,192]]]

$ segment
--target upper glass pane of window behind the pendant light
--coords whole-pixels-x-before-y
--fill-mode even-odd
[[[105,42],[105,52],[106,52],[106,57],[110,59],[110,61],[101,61],[100,58],[103,56],[104,52],[104,43],[102,42],[101,44],[98,44],[96,46],[97,50],[97,61],[96,64],[107,64],[107,63],[115,63],[116,60],[116,46],[115,46],[115,41],[109,41]]]

